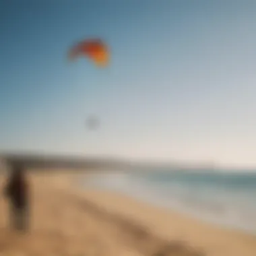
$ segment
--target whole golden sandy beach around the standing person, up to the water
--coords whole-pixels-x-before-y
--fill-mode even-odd
[[[8,227],[0,199],[0,255],[255,256],[256,238],[204,224],[106,191],[79,191],[77,174],[37,172],[32,224],[26,234]],[[4,179],[1,179],[3,185]]]

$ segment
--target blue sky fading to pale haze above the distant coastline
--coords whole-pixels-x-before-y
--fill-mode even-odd
[[[256,166],[255,13],[245,0],[1,0],[0,150]],[[106,69],[67,60],[95,37]]]

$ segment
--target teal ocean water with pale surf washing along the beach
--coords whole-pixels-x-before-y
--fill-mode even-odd
[[[112,172],[83,181],[256,234],[256,173]]]

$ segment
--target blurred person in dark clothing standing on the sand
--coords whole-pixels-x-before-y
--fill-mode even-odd
[[[28,228],[28,183],[22,166],[13,166],[5,187],[5,195],[9,199],[11,226],[16,230],[26,230]]]

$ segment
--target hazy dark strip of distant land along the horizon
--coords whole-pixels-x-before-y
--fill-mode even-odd
[[[26,168],[129,168],[141,171],[161,170],[161,171],[186,171],[212,169],[213,166],[205,166],[205,164],[197,164],[192,166],[189,164],[177,163],[152,163],[152,162],[135,162],[114,158],[89,158],[86,156],[65,156],[53,154],[31,154],[27,152],[2,153],[0,154],[2,165],[5,164],[22,164]]]

